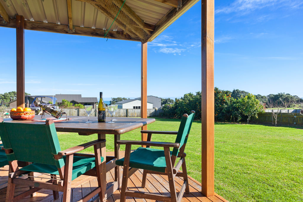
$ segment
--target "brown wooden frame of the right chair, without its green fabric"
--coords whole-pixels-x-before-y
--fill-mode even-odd
[[[195,113],[195,111],[191,111]],[[187,116],[184,114],[183,116]],[[151,142],[152,134],[178,134],[178,131],[146,131],[142,130],[141,133],[147,133],[147,141],[128,141],[128,140],[119,140],[117,144],[125,144],[125,156],[124,156],[124,163],[123,163],[123,178],[122,178],[122,189],[121,189],[121,198],[120,201],[124,202],[126,197],[138,197],[138,198],[145,198],[151,200],[160,200],[160,201],[181,201],[182,196],[185,193],[189,194],[189,185],[188,185],[188,177],[187,177],[187,170],[186,170],[186,163],[185,163],[185,156],[184,153],[186,143],[184,143],[181,148],[179,148],[179,143],[168,143],[168,142]],[[188,134],[186,135],[188,138]],[[129,169],[129,161],[131,155],[131,147],[132,145],[143,145],[146,147],[155,146],[155,147],[163,147],[164,154],[165,154],[165,161],[166,161],[166,169],[165,172],[156,172],[156,171],[148,171],[143,170],[143,177],[142,177],[142,188],[145,187],[146,177],[147,174],[161,174],[168,176],[168,183],[171,196],[162,196],[159,194],[150,194],[146,192],[140,191],[129,191],[126,190],[127,188],[127,181],[128,178],[137,171],[137,168]],[[179,153],[177,157],[180,157],[180,160],[175,165],[177,157],[170,154],[170,147],[179,148]],[[180,167],[182,166],[182,172],[178,172]],[[183,177],[183,184],[181,190],[177,196],[176,187],[175,187],[175,176]]]

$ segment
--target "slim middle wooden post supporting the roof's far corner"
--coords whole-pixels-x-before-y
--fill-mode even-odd
[[[141,44],[141,118],[147,118],[147,42]],[[141,127],[147,130],[147,126]],[[147,140],[147,134],[141,134],[141,140]]]

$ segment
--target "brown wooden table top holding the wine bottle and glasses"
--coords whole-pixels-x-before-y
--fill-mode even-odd
[[[35,118],[31,120],[12,120],[11,118],[5,118],[4,121],[10,123],[45,124],[45,122],[42,121],[32,121],[40,118],[40,115],[36,115]],[[50,116],[46,116],[46,118],[50,118]],[[56,131],[74,132],[82,135],[95,133],[123,134],[155,122],[154,118],[116,117],[118,121],[115,121],[115,123],[108,123],[110,117],[106,117],[105,122],[98,122],[97,117],[89,117],[89,121],[92,121],[92,123],[85,123],[88,120],[85,116],[68,116],[68,118],[70,118],[68,121],[55,122]]]

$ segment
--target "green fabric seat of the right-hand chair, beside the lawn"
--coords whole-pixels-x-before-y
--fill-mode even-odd
[[[116,164],[123,166],[123,162],[124,158],[117,160]],[[164,150],[139,147],[131,153],[129,167],[164,173],[166,168]]]

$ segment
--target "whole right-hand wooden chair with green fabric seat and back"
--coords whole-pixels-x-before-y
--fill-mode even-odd
[[[187,142],[188,134],[191,128],[192,121],[194,119],[195,111],[191,111],[190,115],[183,114],[178,132],[176,131],[141,131],[147,133],[148,141],[127,141],[119,140],[117,144],[125,144],[125,157],[116,161],[116,164],[123,166],[123,178],[122,178],[122,190],[121,201],[125,201],[125,197],[137,197],[151,200],[161,201],[181,201],[184,191],[189,193],[188,178],[185,164],[184,153],[185,145]],[[177,134],[175,143],[167,142],[151,142],[151,134]],[[131,153],[131,146],[145,145],[139,147]],[[153,149],[150,146],[163,147],[164,150]],[[170,147],[173,147],[173,151],[170,151]],[[180,160],[175,165],[177,157]],[[182,172],[178,172],[182,166]],[[131,167],[131,169],[129,169]],[[151,174],[165,174],[168,175],[168,183],[171,196],[162,196],[159,194],[150,194],[138,191],[127,191],[127,181],[136,170],[143,169],[142,187],[145,187],[146,175]],[[175,176],[183,177],[183,185],[180,193],[177,197],[175,189]]]

